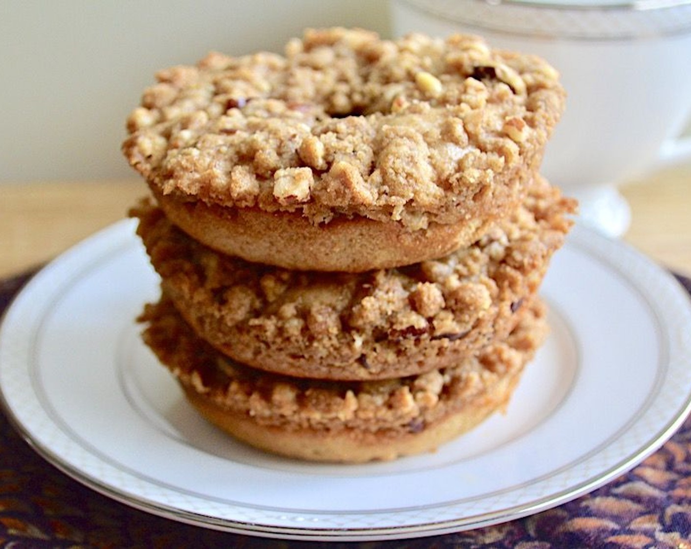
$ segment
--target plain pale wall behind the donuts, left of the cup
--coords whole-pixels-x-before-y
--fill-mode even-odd
[[[136,177],[124,120],[153,73],[281,51],[305,27],[388,35],[384,0],[0,0],[0,183]]]

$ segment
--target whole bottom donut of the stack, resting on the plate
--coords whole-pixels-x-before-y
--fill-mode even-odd
[[[144,342],[211,423],[261,450],[309,461],[362,463],[435,450],[502,410],[545,340],[535,300],[503,341],[418,376],[316,381],[240,365],[214,350],[163,297],[147,305]]]

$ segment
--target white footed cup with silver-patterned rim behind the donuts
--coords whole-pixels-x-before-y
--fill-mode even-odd
[[[542,173],[580,200],[580,219],[621,235],[617,186],[691,158],[691,0],[392,0],[392,29],[469,32],[540,55],[561,74],[567,108]]]

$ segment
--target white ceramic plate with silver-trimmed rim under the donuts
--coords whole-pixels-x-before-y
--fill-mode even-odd
[[[577,228],[543,295],[552,332],[507,414],[435,454],[314,465],[229,440],[140,343],[158,297],[131,221],[33,278],[0,331],[9,416],[91,488],[179,521],[294,539],[388,539],[487,526],[593,490],[656,450],[690,407],[691,305],[629,247]]]

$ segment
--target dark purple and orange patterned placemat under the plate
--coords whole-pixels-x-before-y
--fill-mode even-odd
[[[0,280],[0,314],[30,276]],[[677,278],[691,293],[691,279]],[[0,412],[0,548],[298,549],[319,545],[324,544],[207,530],[108,499],[44,461]],[[638,467],[557,508],[457,534],[334,542],[328,547],[691,549],[691,419]]]

